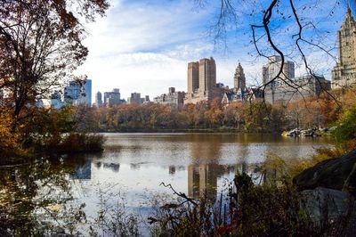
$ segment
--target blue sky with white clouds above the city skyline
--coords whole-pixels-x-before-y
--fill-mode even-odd
[[[233,1],[236,19],[229,19],[224,38],[214,37],[220,0],[206,0],[197,5],[193,0],[113,0],[106,17],[86,23],[88,32],[84,45],[89,55],[77,69],[93,83],[93,98],[98,91],[119,88],[121,97],[131,93],[150,95],[150,100],[167,93],[187,90],[187,65],[190,61],[214,57],[216,81],[233,86],[234,71],[240,62],[247,85],[261,83],[261,69],[266,61],[258,57],[251,43],[251,24],[261,24],[263,9],[269,1]],[[282,1],[279,12],[273,12],[271,32],[276,44],[295,61],[296,76],[305,74],[300,55],[296,52],[293,34],[297,32],[288,1]],[[328,49],[303,45],[312,69],[330,79],[336,64],[336,33],[344,21],[346,5],[355,9],[354,0],[299,0],[297,11],[306,24],[303,37]],[[286,4],[286,5],[283,5]],[[356,12],[356,11],[354,11]],[[291,16],[291,17],[289,17]],[[233,23],[232,23],[233,22]],[[315,27],[314,27],[315,26]],[[266,44],[263,31],[256,30],[259,49],[274,54]],[[332,57],[334,56],[334,57]]]

